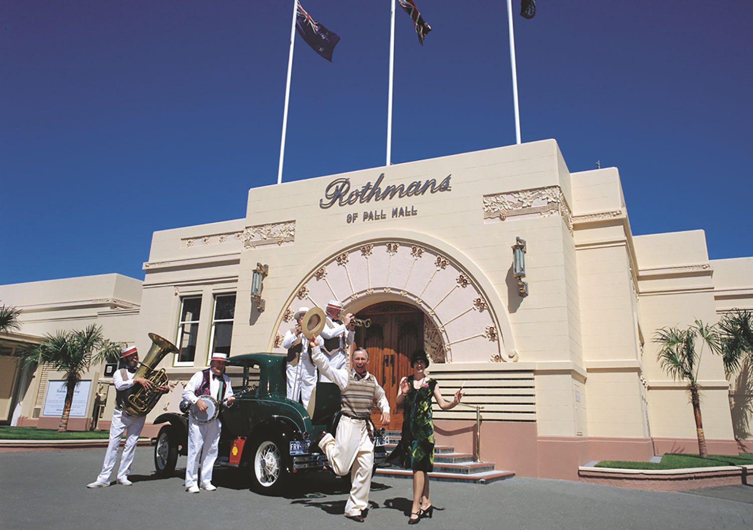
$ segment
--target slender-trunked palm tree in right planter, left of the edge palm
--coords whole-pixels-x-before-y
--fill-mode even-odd
[[[696,350],[697,342],[700,346],[698,350]],[[680,379],[688,382],[693,415],[696,420],[698,452],[701,457],[706,458],[709,452],[706,450],[706,436],[703,434],[703,420],[701,419],[698,368],[701,364],[704,346],[708,346],[713,353],[721,352],[718,332],[715,326],[709,326],[697,320],[687,330],[681,330],[677,327],[662,327],[657,330],[654,343],[661,345],[657,359],[664,371],[675,381]]]

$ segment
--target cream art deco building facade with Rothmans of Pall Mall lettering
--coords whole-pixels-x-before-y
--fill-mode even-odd
[[[702,230],[633,236],[617,169],[571,173],[553,140],[252,188],[244,218],[155,232],[144,270],[139,288],[112,275],[87,309],[48,287],[101,276],[3,285],[0,300],[25,310],[24,334],[98,321],[141,352],[149,332],[174,341],[181,352],[163,361],[174,388],[154,417],[177,410],[181,382],[213,350],[282,352],[299,306],[337,298],[371,319],[356,342],[393,402],[407,358],[426,349],[443,392],[465,385],[464,402],[483,407],[483,460],[534,477],[697,448],[687,388],[657,364],[654,333],[753,309],[753,258],[709,260]],[[79,319],[45,319],[44,303]],[[38,411],[41,371],[17,382],[18,424],[54,422]],[[108,382],[102,367],[88,376]],[[709,451],[750,449],[750,391],[734,378],[730,389],[708,353],[699,379]],[[437,410],[440,441],[470,452],[475,418],[474,407]]]

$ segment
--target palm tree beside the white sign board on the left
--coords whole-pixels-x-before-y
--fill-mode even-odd
[[[47,334],[41,344],[21,353],[24,365],[50,363],[53,370],[65,373],[66,401],[58,432],[68,430],[73,393],[81,381],[81,375],[92,364],[117,356],[120,346],[120,343],[113,343],[102,337],[102,327],[90,324],[84,330],[59,330],[54,335]]]

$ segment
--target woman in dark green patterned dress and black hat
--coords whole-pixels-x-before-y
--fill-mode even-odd
[[[436,379],[426,376],[428,357],[422,349],[410,357],[413,375],[400,380],[398,407],[403,405],[403,430],[400,443],[389,455],[388,461],[413,470],[413,507],[408,524],[413,525],[423,517],[431,517],[434,507],[428,496],[428,475],[434,469],[434,423],[431,421],[431,397],[442,410],[450,410],[460,403],[462,388],[455,392],[453,401],[444,401]]]

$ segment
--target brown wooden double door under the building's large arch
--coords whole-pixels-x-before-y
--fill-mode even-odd
[[[420,309],[404,303],[381,303],[358,312],[358,318],[370,318],[370,327],[355,328],[355,345],[369,352],[368,370],[377,377],[390,405],[389,429],[400,430],[403,410],[396,396],[400,379],[413,373],[410,355],[423,348],[424,317]],[[371,411],[377,428],[382,426],[381,412]]]

